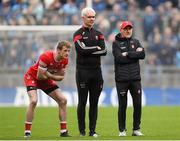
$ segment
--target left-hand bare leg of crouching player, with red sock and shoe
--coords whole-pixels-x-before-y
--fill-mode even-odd
[[[34,110],[36,108],[38,101],[37,90],[28,91],[28,96],[29,96],[29,106],[26,112],[25,136],[30,136],[31,134],[31,125],[34,117]]]

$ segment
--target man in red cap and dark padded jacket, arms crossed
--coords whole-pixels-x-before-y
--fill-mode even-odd
[[[133,25],[123,21],[120,33],[113,42],[115,63],[115,81],[118,93],[118,124],[119,136],[126,136],[127,92],[130,91],[133,100],[133,136],[142,136],[141,123],[141,77],[139,59],[145,58],[144,48],[137,39],[132,38]]]

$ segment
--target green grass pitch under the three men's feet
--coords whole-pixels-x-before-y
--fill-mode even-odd
[[[88,109],[87,109],[88,110]],[[0,140],[24,140],[26,108],[0,107]],[[178,140],[180,139],[180,107],[143,107],[143,137],[132,137],[132,108],[127,110],[127,137],[118,137],[117,108],[99,108],[98,138],[79,137],[76,108],[68,108],[68,129],[72,137],[59,137],[56,107],[37,107],[30,140]],[[88,119],[88,112],[86,120]],[[88,120],[86,122],[88,132]]]

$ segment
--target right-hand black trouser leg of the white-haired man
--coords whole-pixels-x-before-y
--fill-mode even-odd
[[[96,121],[98,117],[98,100],[103,88],[103,79],[101,70],[97,70],[94,72],[95,76],[93,81],[89,84],[89,130],[90,136],[95,133],[96,129]]]

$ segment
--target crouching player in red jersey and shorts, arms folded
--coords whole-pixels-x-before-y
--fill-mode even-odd
[[[55,81],[61,81],[64,78],[70,48],[71,44],[68,41],[59,42],[55,50],[42,53],[38,61],[25,73],[24,82],[30,101],[26,113],[25,137],[31,136],[31,125],[38,101],[37,89],[41,89],[57,102],[59,107],[60,136],[69,136],[66,128],[67,99],[58,90],[59,87]]]

